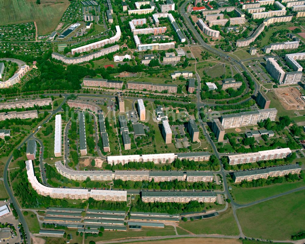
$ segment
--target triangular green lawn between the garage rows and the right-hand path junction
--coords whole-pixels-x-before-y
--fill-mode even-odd
[[[187,222],[181,221],[179,225],[194,234],[239,235],[231,207],[217,217]]]

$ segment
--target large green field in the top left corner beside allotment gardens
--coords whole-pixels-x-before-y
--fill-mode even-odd
[[[69,6],[68,0],[0,0],[0,24],[36,21],[38,35],[53,31]],[[8,11],[9,9],[9,11]]]

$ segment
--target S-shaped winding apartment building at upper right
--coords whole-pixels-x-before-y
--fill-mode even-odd
[[[239,39],[236,41],[237,47],[244,47],[249,46],[251,42],[254,42],[255,39],[260,35],[262,31],[264,31],[265,26],[268,26],[273,23],[277,22],[289,22],[292,20],[292,15],[285,15],[285,16],[273,16],[266,18],[262,24],[257,27],[257,29],[252,33],[251,36],[245,39]]]

